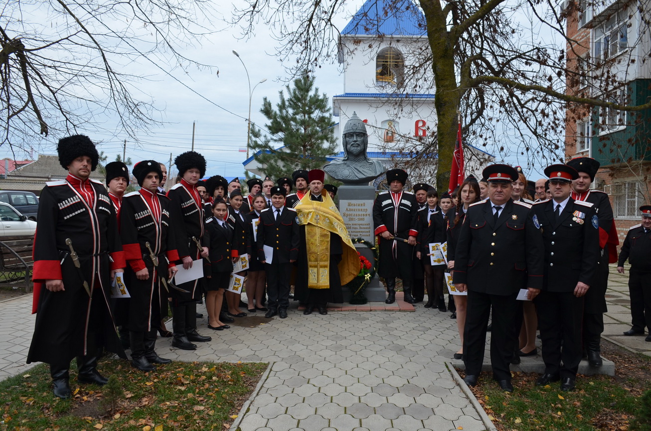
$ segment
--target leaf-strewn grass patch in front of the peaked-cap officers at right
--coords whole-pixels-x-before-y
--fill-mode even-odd
[[[651,389],[651,358],[602,340],[602,356],[615,362],[616,376],[577,376],[574,392],[561,392],[560,382],[539,387],[540,374],[514,373],[515,391],[501,391],[490,373],[471,391],[501,431],[628,430]]]

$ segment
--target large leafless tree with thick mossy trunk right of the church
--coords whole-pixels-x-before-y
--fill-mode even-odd
[[[648,1],[641,4],[646,7]],[[333,18],[343,6],[341,0],[247,0],[246,7],[236,10],[234,22],[243,34],[250,34],[259,21],[270,25],[279,41],[277,53],[284,59],[296,56],[290,68],[301,71],[334,58],[340,29]],[[577,0],[562,7],[554,0],[420,0],[417,5],[411,0],[377,0],[376,7],[380,20],[369,18],[360,25],[378,38],[387,37],[379,30],[383,19],[413,13],[416,7],[424,16],[418,25],[426,35],[426,49],[419,61],[406,65],[408,79],[395,89],[417,92],[429,85],[436,94],[436,130],[402,147],[420,155],[415,163],[437,154],[439,166],[450,166],[458,112],[466,143],[503,156],[517,152],[529,163],[551,163],[564,160],[568,109],[639,112],[651,107],[648,100],[633,106],[613,98],[622,76],[607,69],[598,90],[566,92],[568,79],[588,73],[566,57],[566,46],[580,44],[566,34],[568,12],[579,7]],[[286,20],[288,16],[293,19]],[[360,44],[359,49],[365,48]],[[601,66],[593,60],[590,70],[594,73]],[[422,81],[423,67],[432,72],[431,83]]]

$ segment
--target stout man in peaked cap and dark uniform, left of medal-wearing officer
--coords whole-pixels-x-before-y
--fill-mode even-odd
[[[542,288],[544,245],[533,210],[511,199],[518,171],[508,165],[490,165],[483,171],[488,200],[469,206],[454,257],[454,286],[468,291],[464,327],[464,382],[477,385],[484,361],[486,327],[493,308],[490,359],[493,379],[512,392],[509,363],[516,344],[520,289],[533,299]],[[519,329],[519,327],[518,327]]]

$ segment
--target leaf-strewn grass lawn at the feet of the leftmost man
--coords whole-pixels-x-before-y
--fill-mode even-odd
[[[145,374],[126,361],[104,359],[98,369],[105,377],[115,375],[124,390],[111,406],[106,386],[77,383],[74,365],[72,399],[55,398],[49,367],[38,365],[0,382],[0,430],[227,430],[266,367],[173,362]]]

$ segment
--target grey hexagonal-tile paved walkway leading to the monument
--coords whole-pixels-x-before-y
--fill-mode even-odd
[[[611,271],[605,337],[651,354],[630,327],[626,276]],[[188,352],[159,339],[163,357],[180,361],[263,361],[271,370],[240,422],[264,430],[484,430],[480,415],[453,380],[446,362],[458,348],[449,313],[332,311],[289,318],[238,319],[213,341]],[[398,307],[400,309],[400,307]],[[0,380],[23,372],[34,316],[31,296],[0,303]],[[205,311],[203,310],[205,313]],[[199,331],[208,335],[204,323]]]

